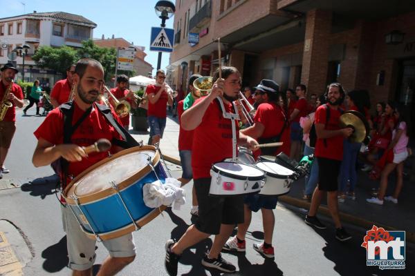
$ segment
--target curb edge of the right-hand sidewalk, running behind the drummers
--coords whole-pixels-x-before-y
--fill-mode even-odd
[[[170,163],[181,166],[180,160],[177,159],[176,157],[171,157],[169,155],[163,155],[163,157],[166,161],[169,161]],[[295,197],[290,197],[288,195],[279,196],[278,200],[282,201],[286,204],[290,204],[292,206],[298,207],[298,208],[304,208],[306,210],[308,210],[308,208],[310,208],[310,205],[311,205],[310,203],[308,203],[308,202],[306,202],[302,199],[297,199]],[[326,216],[328,216],[328,217],[331,217],[329,208],[327,208],[326,206],[320,206],[319,207],[319,212],[326,215]],[[342,221],[347,221],[350,224],[360,226],[360,227],[365,228],[367,230],[370,230],[372,228],[372,226],[374,226],[374,225],[376,225],[378,227],[385,228],[387,230],[391,230],[391,231],[399,231],[400,230],[400,229],[396,229],[396,228],[391,227],[391,226],[387,226],[385,224],[379,224],[375,221],[370,221],[370,220],[367,220],[367,219],[362,219],[360,217],[349,215],[347,213],[339,212],[339,214],[340,214],[340,218],[342,219]],[[408,242],[415,243],[415,233],[405,231],[405,239]]]

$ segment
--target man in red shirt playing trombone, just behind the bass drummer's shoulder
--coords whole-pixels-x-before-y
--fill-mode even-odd
[[[129,79],[126,75],[119,75],[117,77],[117,87],[111,89],[112,95],[118,99],[118,101],[128,101],[131,108],[137,108],[137,101],[134,97],[134,92],[127,89]],[[115,101],[112,97],[109,97],[109,102],[112,106],[116,106]],[[125,117],[120,117],[121,125],[124,126],[126,130],[129,128],[129,117],[127,115]]]

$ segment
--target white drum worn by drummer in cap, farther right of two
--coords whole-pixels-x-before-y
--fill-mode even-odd
[[[264,170],[266,176],[265,185],[259,192],[260,195],[285,195],[290,192],[295,176],[293,170],[270,161],[259,162],[256,166]]]

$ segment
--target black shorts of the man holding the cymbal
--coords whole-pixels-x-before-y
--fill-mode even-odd
[[[318,161],[318,189],[326,192],[338,190],[338,177],[342,161],[317,157]]]

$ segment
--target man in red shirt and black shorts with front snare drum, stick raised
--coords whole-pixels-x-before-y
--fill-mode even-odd
[[[223,79],[219,79],[219,69],[216,70],[210,94],[198,99],[181,116],[183,128],[194,130],[192,169],[194,188],[199,201],[199,217],[195,224],[187,228],[178,242],[169,239],[165,245],[165,268],[170,276],[177,275],[178,260],[183,251],[210,235],[216,236],[212,248],[202,259],[202,265],[227,273],[236,270],[234,265],[221,257],[221,250],[232,234],[234,225],[243,223],[243,195],[209,196],[212,164],[232,157],[232,124],[230,119],[223,117],[223,112],[236,112],[232,108],[232,101],[238,99],[241,89],[241,75],[237,68],[223,66],[221,75]],[[221,99],[225,110],[221,110],[220,101],[216,97]],[[237,126],[235,128],[235,138],[239,144],[251,149],[258,146],[255,139],[243,135]]]

